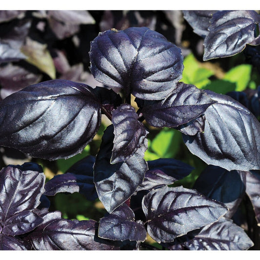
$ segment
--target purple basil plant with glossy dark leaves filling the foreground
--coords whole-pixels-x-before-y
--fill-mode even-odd
[[[205,60],[260,43],[255,11],[242,12],[247,17],[242,20],[240,11],[209,13],[184,11],[204,38]],[[234,26],[235,21],[245,26]],[[228,47],[224,54],[222,45]],[[34,162],[1,170],[0,249],[158,249],[146,243],[147,235],[168,250],[251,248],[252,240],[232,217],[248,196],[260,223],[256,116],[235,95],[180,81],[180,48],[147,27],[100,33],[91,41],[89,57],[90,71],[102,87],[47,80],[0,101],[0,145],[33,158],[73,157],[93,140],[101,115],[111,121],[96,156],[46,183]],[[172,185],[191,173],[190,165],[169,158],[144,160],[149,133],[144,120],[180,131],[189,151],[209,164],[193,189]],[[107,214],[99,221],[68,220],[50,211],[50,196],[75,192],[87,200],[98,198]]]

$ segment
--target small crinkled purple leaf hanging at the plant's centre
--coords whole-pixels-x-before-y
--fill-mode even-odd
[[[142,146],[147,149],[146,131],[138,121],[136,110],[129,104],[122,104],[112,112],[114,125],[114,147],[111,163],[126,161]]]

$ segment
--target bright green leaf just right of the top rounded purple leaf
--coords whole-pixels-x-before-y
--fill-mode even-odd
[[[200,62],[196,60],[193,54],[189,54],[183,60],[182,80],[186,84],[193,84],[198,88],[207,85],[209,78],[214,75],[212,70],[200,66]]]

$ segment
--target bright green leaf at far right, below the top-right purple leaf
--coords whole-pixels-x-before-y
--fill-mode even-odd
[[[236,91],[246,89],[251,79],[252,65],[241,64],[230,69],[224,76],[223,80],[236,83]]]

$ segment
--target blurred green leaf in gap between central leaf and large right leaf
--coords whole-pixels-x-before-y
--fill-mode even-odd
[[[180,131],[165,127],[152,140],[150,151],[158,156],[157,159],[174,158],[180,149],[181,141],[182,138]]]

